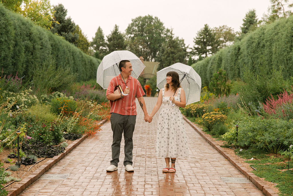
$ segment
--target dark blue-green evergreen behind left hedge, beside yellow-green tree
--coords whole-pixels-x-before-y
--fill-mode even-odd
[[[68,42],[77,45],[78,34],[74,33],[75,23],[71,21],[71,18],[66,18],[67,9],[62,4],[54,6],[54,18],[51,27],[53,33],[57,33],[62,36]]]

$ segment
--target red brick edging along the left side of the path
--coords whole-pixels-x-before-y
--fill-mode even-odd
[[[107,121],[107,119],[104,119],[99,122],[100,125],[104,124]],[[48,160],[45,164],[40,166],[38,169],[36,169],[32,174],[21,180],[17,185],[13,186],[8,191],[8,196],[17,196],[21,192],[23,192],[26,188],[28,188],[29,185],[34,183],[36,180],[38,180],[45,172],[47,172],[54,164],[56,164],[58,161],[60,161],[62,158],[64,158],[71,150],[73,150],[76,146],[78,146],[83,140],[85,140],[88,137],[88,135],[84,134],[83,137],[81,137],[78,140],[74,140],[69,146],[65,148],[65,152],[62,154],[59,154],[50,160]]]

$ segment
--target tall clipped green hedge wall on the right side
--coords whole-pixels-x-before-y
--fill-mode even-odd
[[[248,33],[241,41],[219,50],[213,56],[192,65],[202,78],[202,86],[209,84],[219,68],[226,70],[232,80],[243,78],[248,70],[270,74],[272,68],[283,68],[284,79],[293,76],[293,16],[264,25]]]

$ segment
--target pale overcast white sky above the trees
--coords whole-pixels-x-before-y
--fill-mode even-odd
[[[52,5],[63,4],[75,24],[81,27],[89,41],[100,26],[109,35],[114,25],[125,32],[131,19],[138,16],[157,16],[166,28],[193,46],[197,32],[209,27],[227,25],[240,31],[245,14],[255,9],[260,20],[267,13],[270,0],[50,0]]]

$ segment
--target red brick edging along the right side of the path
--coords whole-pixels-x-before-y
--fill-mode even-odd
[[[231,162],[244,176],[248,178],[261,192],[263,192],[266,196],[278,196],[274,190],[272,190],[268,185],[264,184],[260,181],[260,178],[255,176],[254,173],[248,171],[246,167],[244,167],[238,160],[234,157],[229,157],[229,154],[218,144],[214,143],[213,140],[208,139],[205,137],[204,133],[200,128],[198,128],[194,123],[188,120],[185,116],[183,116],[184,120],[192,126],[192,128],[199,133],[214,149],[216,149],[220,154],[222,154],[227,160]]]

